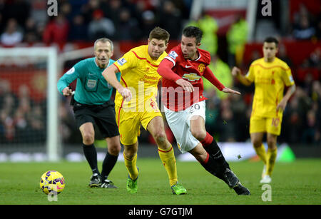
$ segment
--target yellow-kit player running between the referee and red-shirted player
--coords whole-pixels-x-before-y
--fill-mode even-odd
[[[158,146],[158,154],[168,173],[174,194],[185,194],[178,183],[173,147],[167,140],[163,116],[156,96],[161,76],[157,73],[159,63],[167,56],[169,34],[156,27],[148,38],[148,45],[131,49],[113,65],[103,71],[106,81],[116,88],[116,123],[124,146],[123,156],[128,170],[127,190],[137,193],[138,168],[136,167],[138,136],[143,126],[151,133]],[[118,82],[116,73],[121,72]]]

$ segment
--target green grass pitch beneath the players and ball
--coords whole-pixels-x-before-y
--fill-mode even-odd
[[[188,190],[186,195],[173,195],[168,176],[159,159],[138,158],[140,168],[138,193],[126,191],[127,170],[116,163],[110,180],[118,189],[88,188],[91,170],[88,164],[69,163],[0,163],[0,204],[59,205],[215,205],[321,204],[321,159],[297,159],[293,163],[276,163],[270,184],[271,201],[263,201],[260,181],[263,164],[242,161],[230,163],[249,196],[238,196],[223,181],[206,172],[199,163],[177,162],[178,179]],[[101,167],[101,163],[99,163]],[[39,188],[39,179],[47,170],[57,170],[66,180],[58,200],[50,202]]]

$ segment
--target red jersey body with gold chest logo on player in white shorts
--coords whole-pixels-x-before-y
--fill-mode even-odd
[[[203,73],[210,64],[210,53],[203,49],[198,49],[198,58],[195,60],[185,59],[183,57],[180,44],[170,50],[168,56],[163,61],[173,63],[172,71],[184,80],[190,82],[193,87],[193,93],[184,91],[175,81],[162,78],[162,102],[164,106],[171,111],[183,111],[186,108],[206,100],[203,96]],[[166,60],[165,60],[166,59]]]

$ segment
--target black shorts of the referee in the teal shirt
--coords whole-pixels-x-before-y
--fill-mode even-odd
[[[119,136],[118,126],[115,118],[115,105],[107,101],[102,105],[86,105],[75,102],[73,112],[78,128],[83,123],[93,123],[99,128],[103,138]]]

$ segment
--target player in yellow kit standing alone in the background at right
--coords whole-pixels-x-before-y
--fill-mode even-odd
[[[234,67],[233,76],[245,86],[255,84],[252,114],[250,117],[250,137],[256,153],[263,161],[264,168],[260,183],[270,183],[277,157],[277,136],[281,133],[282,113],[287,101],[295,93],[295,82],[287,63],[276,57],[278,41],[268,37],[263,44],[263,58],[250,65],[246,76]],[[283,96],[285,86],[289,87]],[[267,133],[267,153],[263,146],[263,135]]]

